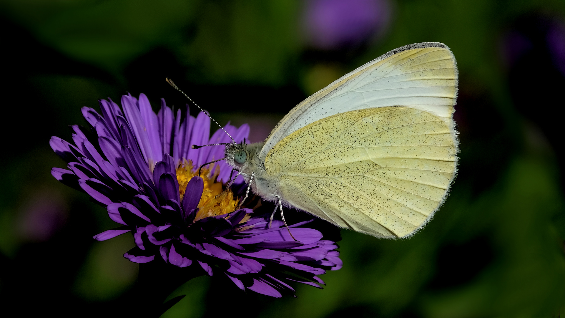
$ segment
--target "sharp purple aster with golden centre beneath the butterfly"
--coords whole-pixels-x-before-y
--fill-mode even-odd
[[[121,225],[95,239],[131,232],[136,247],[124,256],[133,262],[223,273],[242,290],[275,297],[294,291],[293,281],[319,287],[319,274],[341,268],[336,244],[308,222],[289,226],[295,241],[281,221],[269,225],[252,209],[236,209],[238,199],[223,187],[231,173],[224,161],[198,175],[198,167],[222,158],[224,149],[190,146],[232,141],[222,130],[208,138],[205,113],[194,118],[187,110],[181,120],[180,110],[175,116],[163,100],[155,114],[144,94],[123,96],[123,111],[111,100],[99,102],[102,115],[82,108],[92,129],[72,126],[74,145],[50,141],[68,163],[51,174],[86,192]],[[249,135],[247,125],[224,128],[236,142]]]

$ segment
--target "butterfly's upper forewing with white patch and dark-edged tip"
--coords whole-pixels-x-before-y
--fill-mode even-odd
[[[457,66],[453,53],[438,42],[416,43],[374,59],[295,106],[277,124],[260,152],[292,132],[345,111],[403,105],[428,111],[454,132],[453,105],[457,97]]]

